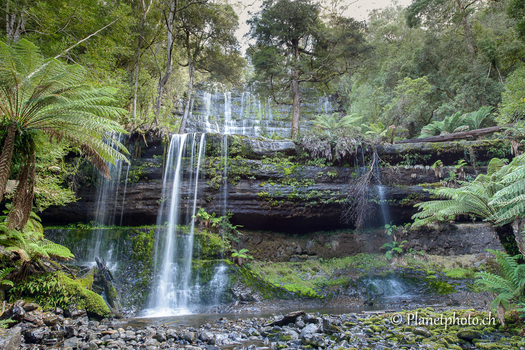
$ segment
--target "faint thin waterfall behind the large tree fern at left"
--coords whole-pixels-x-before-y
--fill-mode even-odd
[[[117,148],[115,141],[122,143],[125,135],[112,135],[108,140],[108,144],[112,148]],[[119,187],[122,174],[122,160],[116,159],[115,163],[108,163],[110,179],[102,178],[101,183],[97,187],[97,211],[95,214],[95,225],[92,231],[91,244],[88,248],[85,262],[89,266],[95,266],[95,257],[106,261],[109,268],[114,266],[111,264],[112,247],[106,237],[106,229],[103,226],[111,226],[116,224],[117,208],[120,209],[120,223],[122,223],[122,214],[124,208],[125,194],[127,187],[124,185],[122,203],[119,203]],[[129,165],[126,172],[125,182],[128,181]],[[120,204],[120,205],[119,205]]]

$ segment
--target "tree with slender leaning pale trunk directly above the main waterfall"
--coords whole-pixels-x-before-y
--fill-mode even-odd
[[[176,42],[185,50],[188,89],[179,134],[184,133],[190,111],[195,73],[212,74],[232,83],[240,80],[245,60],[240,57],[235,31],[238,17],[228,4],[194,4],[181,10]]]

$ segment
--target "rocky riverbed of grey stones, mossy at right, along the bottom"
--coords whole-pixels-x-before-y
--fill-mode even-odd
[[[214,320],[199,326],[177,324],[174,321],[185,316],[175,316],[171,322],[138,326],[132,319],[99,322],[82,313],[71,315],[61,309],[41,311],[36,306],[20,300],[8,310],[19,323],[2,331],[3,349],[525,349],[525,329],[517,315],[507,316],[503,326],[481,308],[420,308],[411,312],[386,310],[340,315],[296,311],[270,318],[217,314]],[[453,317],[459,320],[456,324],[443,321]],[[439,318],[441,321],[435,321]],[[428,324],[429,319],[434,322]],[[464,324],[463,319],[468,322]]]

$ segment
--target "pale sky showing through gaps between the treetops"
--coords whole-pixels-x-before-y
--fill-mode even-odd
[[[353,17],[356,20],[368,19],[368,14],[375,8],[383,8],[392,4],[391,0],[343,0],[343,3],[350,4],[348,11],[345,13],[348,17]],[[397,4],[402,6],[408,6],[412,3],[412,0],[398,0]],[[241,53],[244,54],[248,48],[248,43],[243,36],[248,32],[249,26],[246,24],[246,20],[249,18],[248,11],[257,12],[259,6],[262,4],[262,0],[240,0],[240,6],[237,7],[237,13],[239,14],[239,29],[237,30],[237,38],[241,45]],[[244,9],[243,9],[244,8]],[[242,12],[240,12],[242,10]],[[240,13],[239,13],[240,12]]]

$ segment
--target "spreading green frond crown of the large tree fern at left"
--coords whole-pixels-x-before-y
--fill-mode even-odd
[[[106,162],[128,161],[104,140],[107,133],[125,133],[117,118],[126,111],[111,106],[111,87],[86,84],[86,70],[45,59],[38,47],[22,39],[13,46],[0,42],[0,111],[2,124],[19,123],[20,134],[35,130],[79,147],[100,171]],[[118,149],[127,152],[120,143]]]

